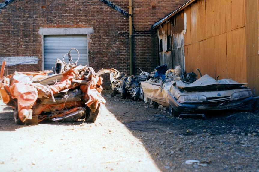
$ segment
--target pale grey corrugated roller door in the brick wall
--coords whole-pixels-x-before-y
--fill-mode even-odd
[[[69,52],[71,48],[76,48],[79,51],[80,58],[77,65],[88,64],[88,41],[87,35],[57,35],[44,36],[44,70],[52,70],[55,68],[56,59],[63,59],[64,55]],[[70,51],[73,62],[78,58],[77,51]],[[68,56],[64,58],[68,63]],[[73,63],[72,62],[72,63]]]

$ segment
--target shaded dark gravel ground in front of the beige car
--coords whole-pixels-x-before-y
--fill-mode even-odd
[[[142,101],[109,94],[105,99],[107,109],[143,143],[161,171],[259,172],[258,112],[174,118],[145,108]]]

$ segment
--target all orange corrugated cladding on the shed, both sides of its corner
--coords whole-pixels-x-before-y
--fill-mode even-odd
[[[259,95],[258,0],[197,0],[184,9],[185,70],[231,78]]]

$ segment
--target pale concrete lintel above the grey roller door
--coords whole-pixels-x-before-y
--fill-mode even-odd
[[[87,35],[93,34],[93,28],[40,28],[40,35]]]

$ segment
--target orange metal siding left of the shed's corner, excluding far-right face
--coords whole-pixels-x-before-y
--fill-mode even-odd
[[[245,0],[197,0],[184,8],[184,15],[186,71],[199,68],[215,78],[246,81]]]

